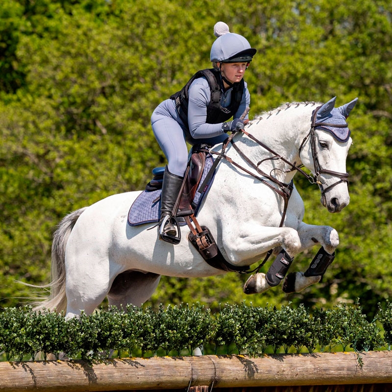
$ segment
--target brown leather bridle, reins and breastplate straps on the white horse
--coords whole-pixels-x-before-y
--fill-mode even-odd
[[[287,159],[285,159],[284,157],[282,157],[281,155],[277,154],[274,150],[272,150],[270,147],[268,147],[266,144],[264,144],[262,141],[258,140],[257,138],[255,138],[252,134],[246,132],[244,129],[242,130],[242,132],[251,140],[253,140],[255,143],[257,143],[259,146],[263,147],[264,149],[266,149],[267,151],[269,151],[273,156],[270,158],[265,158],[261,161],[259,161],[257,164],[253,163],[245,154],[244,152],[241,151],[240,147],[238,147],[235,144],[235,141],[233,141],[233,136],[235,133],[232,133],[228,139],[226,140],[226,142],[223,144],[222,150],[221,152],[216,152],[216,151],[209,151],[211,154],[215,154],[218,155],[218,161],[221,158],[226,159],[226,161],[228,161],[229,163],[231,163],[233,166],[237,167],[238,169],[242,170],[243,172],[251,175],[252,177],[256,178],[257,180],[259,180],[260,182],[262,182],[263,184],[267,185],[268,187],[270,187],[273,191],[275,191],[278,195],[280,195],[283,198],[284,201],[284,208],[283,208],[283,213],[282,213],[282,218],[280,220],[279,223],[279,227],[283,226],[283,222],[285,220],[286,217],[286,212],[287,212],[287,207],[288,207],[288,203],[289,203],[289,199],[292,195],[292,191],[294,189],[294,182],[293,180],[289,183],[289,184],[285,184],[279,180],[277,180],[275,177],[273,177],[271,174],[265,173],[263,172],[259,166],[267,160],[278,160],[280,159],[281,161],[285,162],[287,165],[289,165],[291,167],[290,170],[287,170],[286,172],[292,172],[294,170],[296,170],[297,172],[300,172],[303,176],[305,176],[309,182],[311,184],[315,184],[317,183],[319,185],[319,189],[321,192],[321,195],[324,195],[328,190],[330,190],[331,188],[333,188],[334,186],[342,183],[342,182],[348,182],[348,173],[342,173],[342,172],[334,172],[331,170],[327,170],[327,169],[322,169],[319,163],[319,157],[318,157],[318,153],[317,153],[317,148],[316,148],[316,135],[315,135],[315,129],[321,126],[332,126],[332,127],[336,127],[336,128],[345,128],[348,126],[348,124],[331,124],[331,123],[316,123],[316,117],[317,117],[317,112],[319,111],[321,106],[319,106],[318,108],[315,109],[315,111],[313,112],[312,115],[312,123],[311,123],[311,128],[309,133],[305,136],[305,138],[303,139],[299,149],[298,149],[298,153],[300,154],[302,148],[305,145],[305,142],[308,140],[308,138],[310,138],[310,146],[311,146],[311,151],[312,151],[312,159],[313,159],[313,163],[315,166],[315,173],[313,174],[308,174],[306,172],[304,172],[300,166],[296,165],[296,162],[291,163],[290,161],[288,161]],[[258,172],[261,175],[257,175],[253,172],[250,172],[249,170],[247,170],[246,168],[244,168],[243,166],[241,166],[240,164],[238,164],[237,162],[233,161],[230,157],[228,157],[225,154],[225,150],[226,147],[228,146],[228,144],[231,143],[231,145],[233,146],[233,148],[237,151],[237,153],[245,160],[245,162],[247,162],[249,164],[249,166],[251,166],[254,170],[256,170],[256,172]],[[301,165],[302,166],[302,165]],[[212,169],[212,168],[211,168]],[[210,170],[210,172],[213,172],[212,170]],[[272,170],[271,170],[272,172]],[[322,187],[322,182],[320,181],[320,174],[330,174],[334,177],[338,177],[340,178],[339,181],[333,183],[332,185],[328,186],[327,188],[323,188]],[[212,173],[211,173],[212,174]],[[267,178],[267,179],[266,179]],[[274,186],[275,185],[275,186]],[[265,257],[265,259],[261,262],[261,264],[256,267],[254,270],[251,271],[246,271],[246,273],[252,273],[255,272],[256,273],[264,266],[264,264],[267,262],[267,260],[269,259],[270,255],[272,254],[272,249],[270,249],[267,252],[267,255]]]

